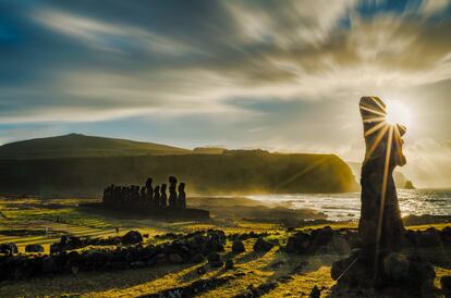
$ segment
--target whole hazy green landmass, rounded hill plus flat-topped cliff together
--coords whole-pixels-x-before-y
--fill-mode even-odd
[[[0,147],[0,191],[100,195],[107,185],[157,184],[175,175],[190,195],[340,193],[356,189],[352,171],[332,154],[265,150],[186,150],[71,134]]]

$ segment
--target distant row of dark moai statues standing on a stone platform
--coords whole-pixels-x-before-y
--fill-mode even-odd
[[[110,185],[103,190],[103,204],[113,208],[186,208],[185,184],[176,186],[176,178],[169,177],[169,199],[166,193],[167,185],[153,186],[153,178],[147,178],[144,186]]]

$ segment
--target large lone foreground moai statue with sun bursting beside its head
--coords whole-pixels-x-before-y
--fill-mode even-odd
[[[399,249],[404,232],[392,173],[406,162],[401,138],[405,127],[385,121],[386,104],[378,97],[363,97],[359,108],[366,152],[361,176],[358,234],[364,253],[383,257]]]

